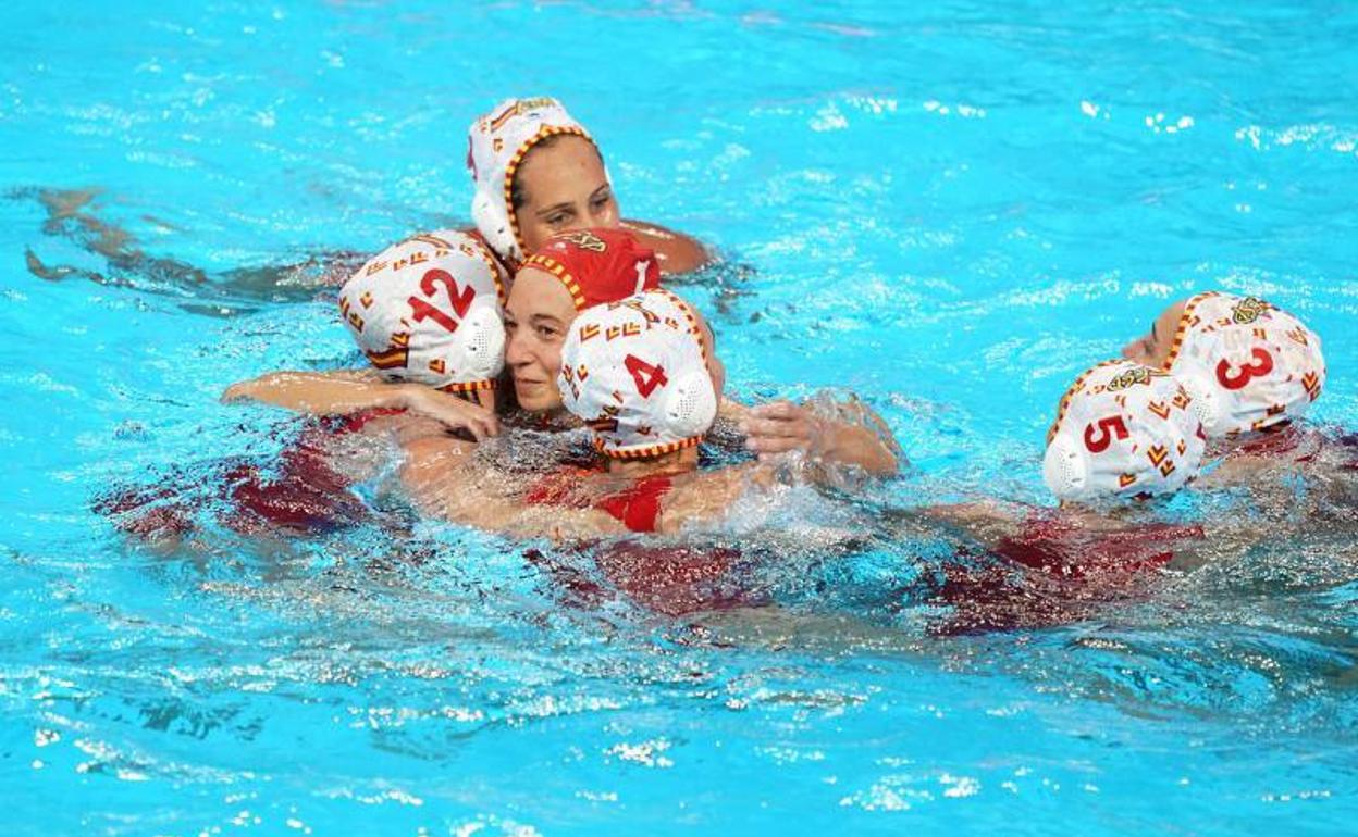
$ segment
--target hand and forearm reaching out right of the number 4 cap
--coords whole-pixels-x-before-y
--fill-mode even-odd
[[[770,402],[751,407],[740,421],[740,430],[746,434],[746,446],[760,460],[801,450],[815,460],[858,465],[868,473],[891,476],[899,467],[899,448],[894,440],[883,440],[881,419],[875,414],[865,418],[877,427],[827,419],[792,402]]]

